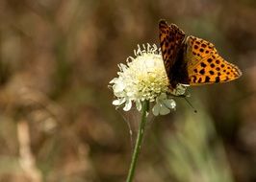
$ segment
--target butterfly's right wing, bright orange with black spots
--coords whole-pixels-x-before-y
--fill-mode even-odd
[[[218,55],[215,46],[201,38],[188,36],[185,60],[188,62],[191,85],[236,80],[242,76],[240,69]]]

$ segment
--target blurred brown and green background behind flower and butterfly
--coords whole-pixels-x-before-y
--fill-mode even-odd
[[[254,0],[1,0],[0,181],[125,180],[137,113],[107,85],[137,44],[159,45],[161,18],[243,77],[191,87],[197,114],[178,98],[150,121],[135,181],[256,181],[255,17]]]

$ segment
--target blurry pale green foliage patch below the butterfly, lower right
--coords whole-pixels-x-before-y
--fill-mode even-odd
[[[177,181],[233,181],[224,148],[208,116],[185,113],[177,119],[175,130],[175,134],[166,134],[166,158]]]

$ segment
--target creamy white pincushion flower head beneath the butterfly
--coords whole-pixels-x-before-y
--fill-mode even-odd
[[[118,77],[110,81],[116,97],[114,105],[124,104],[123,110],[128,111],[132,102],[135,102],[137,109],[141,111],[141,102],[155,102],[152,112],[156,116],[166,115],[170,109],[175,109],[176,103],[167,96],[184,95],[186,86],[178,84],[170,92],[161,51],[155,44],[142,45],[142,48],[138,45],[135,57],[128,57],[126,62],[127,65],[118,65]]]

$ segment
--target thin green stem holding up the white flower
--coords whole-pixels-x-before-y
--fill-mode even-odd
[[[134,178],[137,161],[138,161],[139,154],[141,151],[141,143],[142,143],[142,139],[143,139],[143,135],[144,135],[144,128],[145,128],[145,124],[146,124],[146,112],[148,111],[148,107],[149,107],[149,102],[144,101],[142,103],[142,108],[141,108],[141,111],[142,111],[141,124],[140,124],[140,128],[139,128],[139,131],[137,134],[136,144],[135,144],[135,148],[134,148],[134,152],[133,152],[133,157],[132,157],[129,173],[126,178],[126,182],[132,182],[133,178]]]

